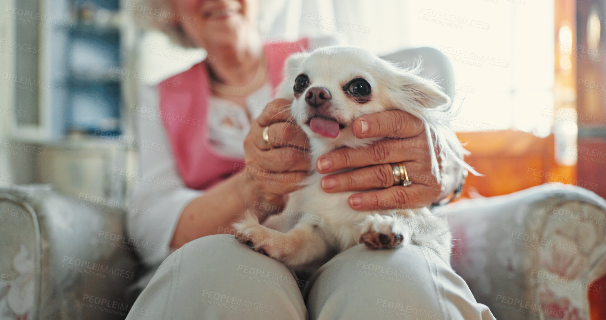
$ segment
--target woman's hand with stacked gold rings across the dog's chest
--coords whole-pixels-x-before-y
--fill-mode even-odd
[[[316,169],[330,174],[344,168],[353,171],[325,176],[325,192],[368,191],[353,194],[348,204],[356,210],[415,208],[437,202],[454,190],[431,174],[431,155],[422,121],[404,111],[362,115],[351,130],[358,138],[388,137],[367,148],[342,148],[318,158]],[[438,159],[439,161],[439,159]],[[404,162],[410,186],[394,186],[390,163]],[[378,190],[376,190],[378,189]]]

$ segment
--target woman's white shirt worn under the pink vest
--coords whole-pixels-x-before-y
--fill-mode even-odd
[[[266,83],[247,99],[251,118],[259,117],[269,101],[271,86]],[[136,172],[139,177],[148,175],[153,177],[154,181],[163,183],[135,184],[129,204],[139,209],[128,211],[127,233],[133,239],[135,250],[144,262],[153,265],[162,262],[170,254],[170,242],[183,209],[203,192],[184,187],[185,183],[177,170],[162,118],[159,117],[156,87],[142,87],[139,92],[139,104],[145,114],[135,114],[137,137],[156,143],[159,148],[145,148],[144,144],[139,147]],[[250,130],[250,121],[244,109],[231,101],[214,96],[211,96],[208,107],[208,134],[211,145],[227,157],[244,158],[244,138]]]

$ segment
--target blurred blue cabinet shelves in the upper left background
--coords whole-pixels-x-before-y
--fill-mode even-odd
[[[65,133],[120,132],[119,0],[72,0],[76,26],[67,32]]]

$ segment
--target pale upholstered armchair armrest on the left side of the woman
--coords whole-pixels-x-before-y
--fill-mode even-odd
[[[121,241],[121,210],[48,186],[4,188],[0,234],[0,318],[123,319],[128,313],[125,288],[135,281],[136,256]]]

